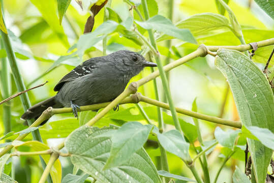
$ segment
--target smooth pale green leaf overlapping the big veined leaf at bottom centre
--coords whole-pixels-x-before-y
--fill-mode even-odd
[[[117,167],[128,161],[146,142],[152,127],[139,122],[129,122],[121,126],[111,137],[110,156],[103,170]]]

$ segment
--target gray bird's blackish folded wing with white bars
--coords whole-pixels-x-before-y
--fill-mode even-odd
[[[70,73],[65,75],[54,87],[54,91],[57,92],[59,91],[62,86],[65,84],[67,81],[72,81],[77,78],[83,77],[87,74],[91,74],[94,72],[95,69],[97,69],[98,66],[96,65],[95,59],[91,58],[89,60],[86,60],[83,62],[81,65],[77,66],[74,68]]]

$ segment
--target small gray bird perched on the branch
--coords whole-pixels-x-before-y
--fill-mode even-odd
[[[75,117],[78,117],[79,106],[114,100],[124,91],[129,80],[144,67],[156,66],[155,63],[147,62],[139,53],[129,50],[90,58],[56,84],[54,91],[58,93],[54,97],[29,108],[21,118],[36,119],[50,106],[71,107]]]

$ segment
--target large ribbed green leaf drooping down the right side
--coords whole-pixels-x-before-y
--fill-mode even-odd
[[[242,124],[274,130],[274,97],[262,71],[239,51],[219,49],[216,67],[230,85]],[[248,139],[257,182],[264,182],[272,149],[261,142]]]

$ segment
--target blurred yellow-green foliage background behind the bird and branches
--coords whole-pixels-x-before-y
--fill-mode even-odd
[[[152,1],[152,0],[151,0]],[[77,66],[85,59],[96,56],[102,56],[102,42],[99,42],[94,47],[90,48],[83,56],[83,60],[78,57],[68,56],[71,54],[68,51],[71,46],[77,43],[78,38],[83,33],[84,24],[89,16],[85,11],[82,11],[75,1],[71,2],[66,16],[63,18],[62,26],[59,26],[57,16],[57,3],[55,0],[45,1],[47,7],[43,7],[43,11],[38,10],[39,0],[9,0],[4,1],[5,22],[9,29],[9,36],[12,40],[13,49],[16,52],[17,62],[27,88],[49,81],[46,85],[31,90],[28,96],[31,99],[32,105],[39,101],[45,100],[55,95],[53,87],[65,74]],[[149,2],[149,0],[148,0]],[[169,4],[165,0],[156,0],[158,6],[154,1],[150,4],[158,14],[168,17]],[[257,4],[252,0],[231,0],[229,7],[235,13],[236,18],[242,26],[243,36],[247,43],[261,41],[274,37],[274,21],[265,14]],[[128,17],[132,14],[129,11],[129,6],[122,0],[112,0],[111,8],[115,10],[120,17]],[[173,8],[173,23],[184,20],[189,16],[198,13],[218,13],[215,0],[201,1],[201,0],[176,0]],[[42,14],[41,14],[42,13]],[[50,16],[49,16],[50,15]],[[95,17],[95,26],[98,27],[103,22],[104,9],[102,9]],[[228,17],[227,13],[225,16]],[[239,40],[229,31],[228,28],[220,28],[217,31],[209,31],[203,33],[194,33],[197,42],[205,45],[238,45]],[[146,35],[146,33],[145,33]],[[158,48],[162,54],[162,62],[165,62],[166,55],[168,55],[168,48],[165,47],[166,42],[158,42]],[[198,45],[184,43],[180,40],[172,40],[171,62],[178,59],[197,48]],[[256,64],[263,68],[266,60],[272,50],[273,46],[264,49],[259,49],[255,54]],[[107,37],[107,53],[117,51],[119,49],[130,49],[140,51],[141,45],[133,41],[120,37],[118,33],[114,33]],[[5,57],[3,51],[0,53],[1,57]],[[64,59],[62,64],[53,65],[57,59]],[[68,58],[68,59],[66,59]],[[272,61],[273,63],[273,61]],[[54,69],[52,69],[54,66]],[[49,71],[47,73],[47,71]],[[149,69],[144,70],[138,76],[134,77],[132,81],[138,80],[150,73]],[[161,81],[158,78],[157,82],[161,86]],[[214,66],[214,58],[210,55],[204,58],[196,58],[183,66],[173,69],[169,74],[170,89],[175,106],[190,109],[192,102],[197,98],[198,112],[220,116],[224,99],[227,100],[224,105],[224,112],[222,117],[232,120],[239,120],[236,108],[232,99],[230,91],[226,95],[227,82],[221,72]],[[2,85],[1,85],[2,87]],[[17,92],[13,79],[11,80],[11,94]],[[1,88],[2,90],[2,88]],[[160,90],[162,91],[161,87]],[[153,82],[149,82],[138,89],[143,95],[155,98]],[[2,95],[1,95],[2,96]],[[165,101],[161,92],[161,100]],[[1,98],[2,100],[2,98]],[[10,102],[12,109],[12,131],[20,131],[24,127],[20,122],[20,115],[23,113],[23,108],[19,98],[15,98]],[[156,108],[143,104],[144,109],[149,113],[149,117],[157,120]],[[129,108],[130,107],[130,108]],[[128,109],[128,110],[124,110]],[[123,113],[124,112],[124,113]],[[169,116],[169,111],[165,111],[168,115],[165,116],[165,123],[172,124],[172,118]],[[120,106],[119,112],[111,112],[108,116],[101,119],[96,126],[103,127],[108,124],[121,125],[124,120],[119,116],[130,115],[131,120],[140,120],[142,117],[135,105],[127,104]],[[95,115],[89,112],[89,115]],[[3,116],[3,105],[0,106],[0,116]],[[184,115],[180,115],[188,124],[193,124],[193,119]],[[83,118],[83,117],[82,117]],[[40,128],[40,132],[45,143],[52,146],[60,141],[60,139],[68,136],[70,132],[79,127],[80,119],[77,121],[72,114],[53,116],[49,122]],[[201,121],[201,120],[200,120]],[[189,126],[185,126],[188,128]],[[173,126],[167,125],[167,129],[172,129]],[[184,128],[184,127],[183,127]],[[202,136],[205,141],[214,139],[215,124],[201,121]],[[0,136],[4,134],[3,118],[0,117]],[[31,140],[29,135],[25,140]],[[242,142],[242,145],[245,141]],[[160,156],[159,149],[146,146],[146,150],[151,159],[157,164],[157,156]],[[227,154],[226,149],[222,146],[217,146],[214,151],[208,155],[208,165],[211,178],[213,178],[223,162],[223,155]],[[194,153],[193,150],[191,153]],[[228,161],[225,168],[221,172],[218,182],[232,182],[232,172],[235,165],[243,169],[244,166],[243,150],[234,154],[233,158]],[[72,165],[66,158],[61,158],[63,166],[63,174],[72,172]],[[168,161],[170,165],[170,172],[178,175],[192,177],[186,165],[180,161],[178,157],[168,153]],[[42,168],[37,157],[21,157],[15,158],[16,174],[15,178],[20,183],[22,182],[38,182],[42,173]],[[197,164],[198,165],[198,164]],[[199,166],[199,165],[198,165]],[[198,167],[198,169],[201,169]],[[31,172],[31,173],[29,173]],[[179,182],[179,181],[176,181]]]

